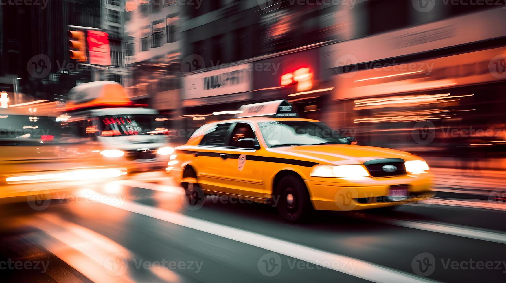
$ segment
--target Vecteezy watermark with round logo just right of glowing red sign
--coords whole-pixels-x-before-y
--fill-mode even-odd
[[[357,74],[358,65],[363,65],[366,70],[392,72],[393,75],[409,73],[423,73],[430,75],[434,69],[434,63],[429,62],[398,63],[395,60],[388,63],[359,62],[355,55],[345,54],[334,62],[334,70],[340,77],[349,79],[353,78]]]

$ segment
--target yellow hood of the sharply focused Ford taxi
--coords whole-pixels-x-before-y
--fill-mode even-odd
[[[357,145],[293,146],[267,150],[287,155],[286,158],[290,159],[310,159],[321,164],[335,165],[362,164],[369,160],[382,158],[401,158],[405,161],[419,159],[403,151]]]

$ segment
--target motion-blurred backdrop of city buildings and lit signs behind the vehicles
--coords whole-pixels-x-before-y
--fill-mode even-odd
[[[115,81],[178,145],[287,99],[359,145],[423,156],[441,191],[487,198],[506,165],[506,10],[457,4],[4,0],[0,102],[62,115],[72,87]]]

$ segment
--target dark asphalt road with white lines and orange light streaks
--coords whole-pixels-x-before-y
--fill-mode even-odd
[[[506,213],[426,203],[392,212],[275,209],[208,197],[147,173],[59,200],[0,206],[0,274],[12,281],[502,282]]]

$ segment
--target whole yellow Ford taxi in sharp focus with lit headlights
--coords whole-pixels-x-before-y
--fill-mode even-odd
[[[272,204],[299,221],[313,209],[390,208],[434,196],[420,157],[352,145],[320,121],[297,118],[284,100],[240,111],[203,125],[170,157],[166,170],[190,205],[224,195]]]

